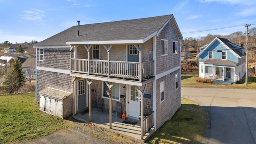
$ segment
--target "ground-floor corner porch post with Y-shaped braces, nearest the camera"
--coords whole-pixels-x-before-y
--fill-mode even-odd
[[[143,124],[143,117],[144,117],[144,105],[143,105],[143,95],[144,92],[147,88],[146,84],[143,88],[143,90],[140,90],[140,88],[138,86],[134,86],[136,88],[136,90],[138,91],[138,93],[140,93],[140,139],[143,140],[143,136],[144,136],[144,124]]]

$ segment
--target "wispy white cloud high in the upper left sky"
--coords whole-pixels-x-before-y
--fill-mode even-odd
[[[38,20],[42,21],[44,15],[43,10],[33,9],[33,10],[24,10],[24,14],[21,15],[21,18],[24,20]]]

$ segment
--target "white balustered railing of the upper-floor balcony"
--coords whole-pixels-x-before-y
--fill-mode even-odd
[[[142,81],[154,74],[154,60],[142,62],[140,66],[140,62],[72,58],[70,72]]]

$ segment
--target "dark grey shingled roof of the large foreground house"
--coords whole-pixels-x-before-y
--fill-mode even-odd
[[[171,19],[178,36],[182,39],[180,30],[171,14],[134,20],[72,26],[34,46],[65,46],[68,45],[67,42],[142,40],[161,30]]]

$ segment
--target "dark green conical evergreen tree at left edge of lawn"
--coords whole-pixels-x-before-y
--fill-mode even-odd
[[[10,70],[4,76],[4,90],[12,93],[25,83],[25,76],[22,72],[22,63],[15,59]]]

